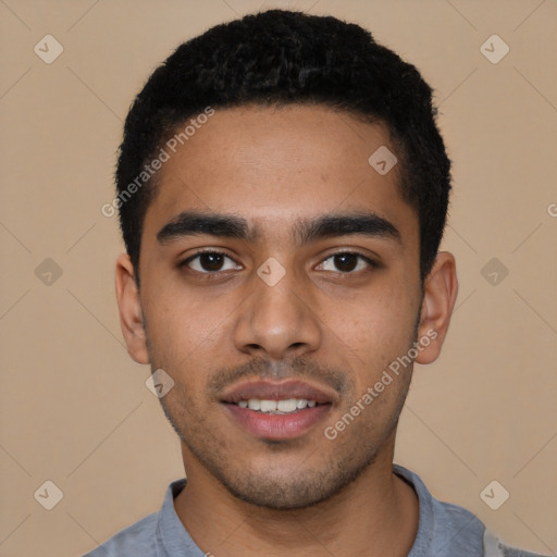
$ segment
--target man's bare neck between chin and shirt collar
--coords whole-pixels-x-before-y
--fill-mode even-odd
[[[174,507],[197,545],[214,557],[407,556],[418,530],[418,497],[393,473],[393,444],[384,448],[356,481],[308,508],[239,500],[198,466],[187,467]]]

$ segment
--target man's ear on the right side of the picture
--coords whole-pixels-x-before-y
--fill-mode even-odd
[[[421,344],[421,349],[416,357],[418,363],[431,363],[440,356],[457,293],[455,258],[448,251],[440,251],[423,285],[418,329],[418,342]]]

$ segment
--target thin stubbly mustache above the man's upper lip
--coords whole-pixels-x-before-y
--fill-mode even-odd
[[[290,360],[274,361],[265,358],[255,358],[242,366],[221,368],[209,380],[207,385],[211,396],[219,396],[226,387],[246,379],[313,379],[334,388],[341,396],[350,391],[346,373],[334,367],[321,366],[305,357]]]

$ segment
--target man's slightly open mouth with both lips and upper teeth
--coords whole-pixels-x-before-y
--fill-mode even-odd
[[[221,403],[244,432],[261,440],[300,437],[331,411],[334,396],[300,381],[253,381],[238,385]]]

